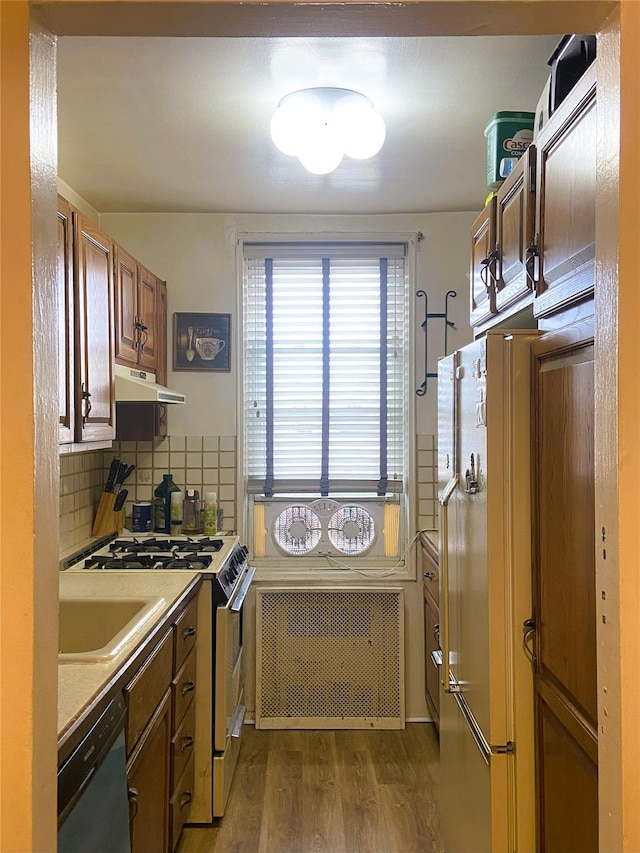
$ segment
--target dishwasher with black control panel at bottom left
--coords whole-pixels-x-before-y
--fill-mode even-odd
[[[130,853],[122,694],[58,769],[58,853]]]

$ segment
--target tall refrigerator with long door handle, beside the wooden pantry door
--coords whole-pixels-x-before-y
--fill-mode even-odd
[[[446,853],[534,853],[536,847],[529,642],[536,335],[490,331],[438,365]]]

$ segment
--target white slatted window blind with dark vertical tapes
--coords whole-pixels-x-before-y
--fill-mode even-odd
[[[402,490],[405,244],[245,244],[253,494]]]

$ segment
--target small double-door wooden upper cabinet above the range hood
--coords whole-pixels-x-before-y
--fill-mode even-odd
[[[157,373],[158,300],[164,282],[120,246],[115,258],[116,361]]]

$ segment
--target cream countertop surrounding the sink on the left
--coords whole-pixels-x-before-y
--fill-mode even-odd
[[[164,603],[114,658],[106,663],[58,665],[58,739],[85,713],[109,686],[123,665],[179,601],[199,572],[60,572],[61,596],[159,596]]]

